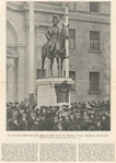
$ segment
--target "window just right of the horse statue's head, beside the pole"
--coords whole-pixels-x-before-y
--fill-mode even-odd
[[[76,30],[72,28],[69,30],[69,48],[76,48]]]

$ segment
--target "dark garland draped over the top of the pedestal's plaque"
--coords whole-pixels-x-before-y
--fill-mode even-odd
[[[71,89],[71,84],[68,84],[67,80],[65,80],[60,84],[55,84],[56,93],[69,93]]]

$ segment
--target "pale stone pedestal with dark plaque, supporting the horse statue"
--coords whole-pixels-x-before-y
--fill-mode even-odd
[[[46,78],[36,81],[37,105],[55,106],[70,104],[70,78]]]

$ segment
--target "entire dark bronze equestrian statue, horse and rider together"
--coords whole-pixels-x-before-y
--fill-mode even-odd
[[[69,25],[63,25],[60,28],[58,26],[59,16],[53,15],[53,25],[48,27],[45,36],[47,43],[42,47],[42,74],[44,72],[44,65],[46,57],[50,59],[50,75],[53,77],[54,59],[57,60],[58,77],[62,77],[62,65],[67,56],[66,39],[69,38]]]

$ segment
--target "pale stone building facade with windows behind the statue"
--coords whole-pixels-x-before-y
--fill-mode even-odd
[[[35,2],[34,5],[36,81],[42,78],[40,50],[47,42],[45,32],[51,25],[55,13],[59,14],[59,26],[61,26],[65,22],[66,4],[65,2]],[[71,102],[109,100],[111,3],[69,2],[68,5],[69,77],[76,82],[71,88]],[[7,102],[28,100],[28,3],[7,2]],[[46,68],[47,61],[45,77]]]

